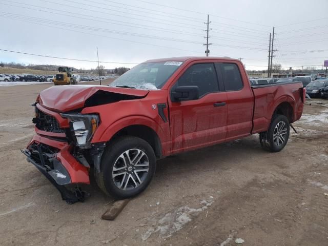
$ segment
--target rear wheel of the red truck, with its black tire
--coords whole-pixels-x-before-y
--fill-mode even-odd
[[[280,129],[281,132],[278,130],[280,128],[278,124],[281,127]],[[283,124],[285,125],[282,127]],[[279,152],[287,144],[289,139],[289,134],[290,134],[290,124],[288,118],[284,115],[277,114],[272,119],[268,131],[260,133],[261,146],[265,150],[271,152]]]

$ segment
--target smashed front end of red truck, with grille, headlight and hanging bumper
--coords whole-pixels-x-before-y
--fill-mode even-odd
[[[99,165],[106,145],[90,143],[98,117],[61,115],[39,104],[33,106],[37,135],[22,153],[57,188],[63,200],[69,204],[84,201],[85,192],[79,185],[90,184],[90,163]]]

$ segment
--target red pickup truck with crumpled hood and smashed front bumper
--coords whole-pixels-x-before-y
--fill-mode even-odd
[[[237,59],[148,60],[109,86],[53,86],[36,99],[36,135],[22,152],[69,203],[79,184],[116,198],[149,185],[156,159],[259,133],[280,151],[303,111],[302,83],[251,86]],[[70,186],[74,184],[74,189]]]

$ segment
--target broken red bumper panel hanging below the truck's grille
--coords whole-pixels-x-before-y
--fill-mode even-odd
[[[72,145],[69,145],[66,142],[60,142],[43,136],[35,135],[29,142],[27,149],[29,149],[29,146],[34,142],[37,144],[43,143],[59,150],[56,158],[68,171],[72,183],[90,184],[89,170],[72,156]]]

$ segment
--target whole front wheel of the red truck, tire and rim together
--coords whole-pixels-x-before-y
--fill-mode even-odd
[[[144,191],[156,169],[153,148],[144,139],[120,137],[105,149],[95,179],[106,194],[126,199]]]

